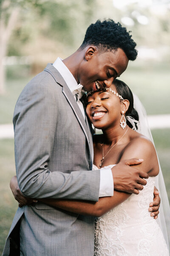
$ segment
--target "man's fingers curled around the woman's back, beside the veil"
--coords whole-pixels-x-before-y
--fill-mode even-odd
[[[158,214],[159,214],[159,207],[160,207],[160,203],[161,203],[161,198],[159,197],[159,191],[156,187],[154,187],[154,192],[153,192],[154,198],[153,198],[153,202],[150,203],[150,207],[149,207],[149,212],[150,216],[153,217],[155,219],[158,218]]]

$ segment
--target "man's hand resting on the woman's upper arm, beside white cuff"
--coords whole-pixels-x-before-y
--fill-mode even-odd
[[[119,191],[125,191],[128,193],[139,194],[139,190],[143,189],[146,185],[148,174],[139,169],[136,169],[134,165],[139,165],[143,162],[143,159],[130,159],[123,160],[113,166],[112,175],[114,181],[114,189]],[[132,167],[133,166],[133,167]]]

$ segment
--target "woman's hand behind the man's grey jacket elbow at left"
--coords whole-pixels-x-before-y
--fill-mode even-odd
[[[10,188],[12,190],[12,194],[14,195],[15,200],[18,201],[18,206],[22,207],[23,205],[26,204],[32,204],[33,202],[36,203],[37,200],[33,198],[26,198],[24,195],[21,193],[20,188],[18,186],[17,182],[17,176],[14,176],[10,180]]]

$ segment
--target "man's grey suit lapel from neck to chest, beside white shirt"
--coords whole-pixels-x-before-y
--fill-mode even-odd
[[[62,86],[62,93],[64,94],[65,98],[68,101],[68,104],[71,106],[75,116],[77,117],[77,120],[78,120],[80,126],[82,127],[82,130],[83,130],[83,132],[85,134],[85,137],[88,141],[88,147],[89,147],[89,150],[91,152],[91,155],[93,155],[93,153],[91,151],[91,146],[90,146],[90,144],[91,144],[91,134],[89,133],[88,123],[86,125],[85,119],[82,115],[81,110],[79,109],[79,106],[78,106],[77,102],[74,99],[73,94],[71,93],[71,90],[68,88],[67,84],[65,83],[65,80],[62,78],[62,76],[57,71],[57,69],[55,67],[53,67],[52,64],[48,64],[47,67],[44,70],[47,71],[48,73],[50,73],[51,76],[53,76],[53,78],[54,78],[54,80],[56,81],[57,84]]]

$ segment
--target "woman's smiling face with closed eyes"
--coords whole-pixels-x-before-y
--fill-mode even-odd
[[[112,85],[112,90],[116,88]],[[123,101],[110,91],[96,91],[87,99],[86,112],[95,128],[105,130],[109,127],[120,126]]]

